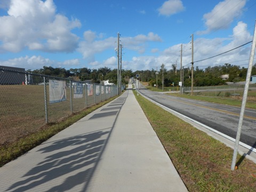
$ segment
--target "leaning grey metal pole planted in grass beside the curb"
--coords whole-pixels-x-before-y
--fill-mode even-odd
[[[242,125],[243,125],[244,110],[245,110],[247,94],[248,94],[248,90],[249,90],[249,83],[250,83],[250,78],[251,78],[251,73],[252,73],[252,62],[253,62],[253,57],[254,57],[254,52],[255,52],[255,46],[256,46],[256,23],[255,23],[255,27],[254,27],[251,55],[250,55],[250,60],[249,60],[249,66],[248,66],[248,69],[247,69],[247,76],[246,76],[245,87],[244,87],[243,101],[242,101],[241,112],[240,112],[240,117],[239,117],[238,129],[237,129],[237,133],[236,133],[236,142],[235,142],[235,147],[234,147],[234,154],[233,154],[232,163],[231,163],[231,170],[232,171],[235,170],[235,165],[236,165],[238,145],[239,145]]]

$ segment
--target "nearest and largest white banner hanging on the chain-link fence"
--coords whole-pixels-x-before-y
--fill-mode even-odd
[[[66,81],[49,79],[49,101],[50,103],[67,100]]]

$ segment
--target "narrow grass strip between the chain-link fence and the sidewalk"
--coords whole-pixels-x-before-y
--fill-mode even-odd
[[[92,111],[102,107],[103,105],[114,100],[117,97],[118,96],[110,98],[97,105],[86,108],[77,114],[71,115],[66,119],[63,119],[61,122],[58,122],[55,124],[46,124],[39,131],[29,134],[24,138],[20,138],[19,140],[13,143],[10,143],[9,145],[5,145],[1,147],[0,148],[0,167],[12,161],[13,159],[25,154],[30,149],[33,149],[34,147],[40,145],[42,142],[51,138],[53,135],[66,129],[68,126],[74,124],[79,119],[92,113]]]

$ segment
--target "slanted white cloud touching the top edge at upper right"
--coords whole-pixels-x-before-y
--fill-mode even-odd
[[[227,29],[231,22],[243,12],[246,0],[225,0],[218,3],[210,13],[203,16],[206,30],[197,34],[207,34],[214,30]]]

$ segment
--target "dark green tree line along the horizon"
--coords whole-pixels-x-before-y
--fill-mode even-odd
[[[125,70],[122,69],[122,84],[127,84],[130,78],[135,78],[139,74],[140,81],[148,82],[149,85],[154,86],[156,81],[159,86],[177,86],[180,82],[180,73],[183,74],[183,85],[191,86],[191,68],[184,68],[182,70],[177,69],[175,65],[172,65],[170,70],[160,66],[160,70]],[[56,76],[62,78],[70,78],[76,81],[90,80],[94,83],[100,83],[101,81],[109,80],[110,83],[117,84],[117,69],[110,69],[107,67],[99,69],[89,68],[71,68],[69,70],[65,68],[53,68],[44,66],[42,69],[29,70],[31,73]],[[158,75],[156,75],[158,72]],[[194,73],[194,86],[213,86],[224,85],[226,82],[241,82],[245,81],[247,75],[247,68],[230,65],[225,63],[222,66],[207,67],[206,69],[199,69],[196,67]],[[222,75],[228,75],[228,79],[223,79]],[[252,75],[256,75],[256,63],[252,68]],[[157,78],[156,78],[157,76]],[[164,80],[164,81],[163,81]]]

